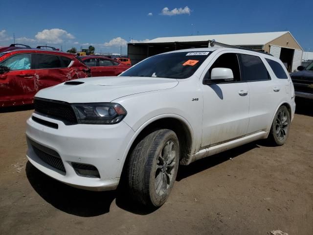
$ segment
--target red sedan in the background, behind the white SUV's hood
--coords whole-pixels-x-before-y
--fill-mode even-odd
[[[93,77],[117,76],[123,71],[131,68],[130,65],[125,65],[105,56],[86,55],[80,56],[79,58],[85,63],[85,65],[89,66]]]

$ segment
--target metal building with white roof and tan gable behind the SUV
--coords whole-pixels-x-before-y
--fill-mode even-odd
[[[145,43],[129,43],[128,56],[133,64],[159,53],[171,50],[226,45],[265,51],[281,59],[288,71],[301,65],[302,47],[290,32],[239,33],[156,38]]]

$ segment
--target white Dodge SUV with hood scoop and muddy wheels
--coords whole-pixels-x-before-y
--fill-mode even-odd
[[[38,92],[27,120],[27,158],[77,188],[111,190],[123,178],[136,201],[158,207],[179,164],[259,139],[282,145],[294,110],[291,78],[271,55],[238,48],[172,51],[118,77]]]

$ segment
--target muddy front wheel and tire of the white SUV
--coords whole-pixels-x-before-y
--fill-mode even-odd
[[[179,165],[179,141],[174,131],[161,129],[143,138],[130,155],[127,183],[132,198],[160,207],[170,195]]]

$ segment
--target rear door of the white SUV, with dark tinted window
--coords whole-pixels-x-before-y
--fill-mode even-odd
[[[247,134],[267,131],[278,105],[278,95],[285,88],[271,79],[264,58],[249,52],[240,54],[240,58],[242,79],[248,84],[250,92]]]

